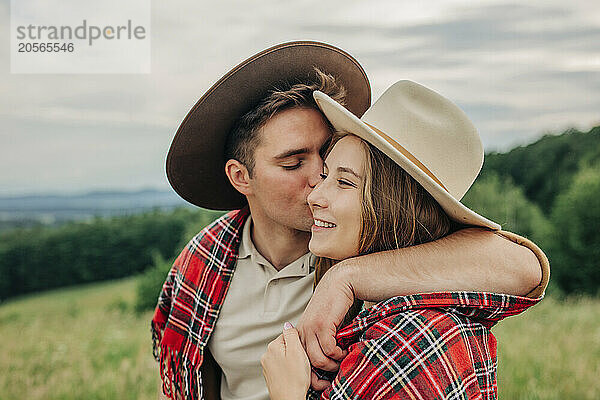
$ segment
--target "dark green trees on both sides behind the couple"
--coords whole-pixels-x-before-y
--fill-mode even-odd
[[[486,155],[462,201],[535,241],[550,259],[552,290],[599,293],[600,127]],[[155,210],[0,233],[0,300],[143,273],[137,307],[151,308],[183,246],[221,214]]]

